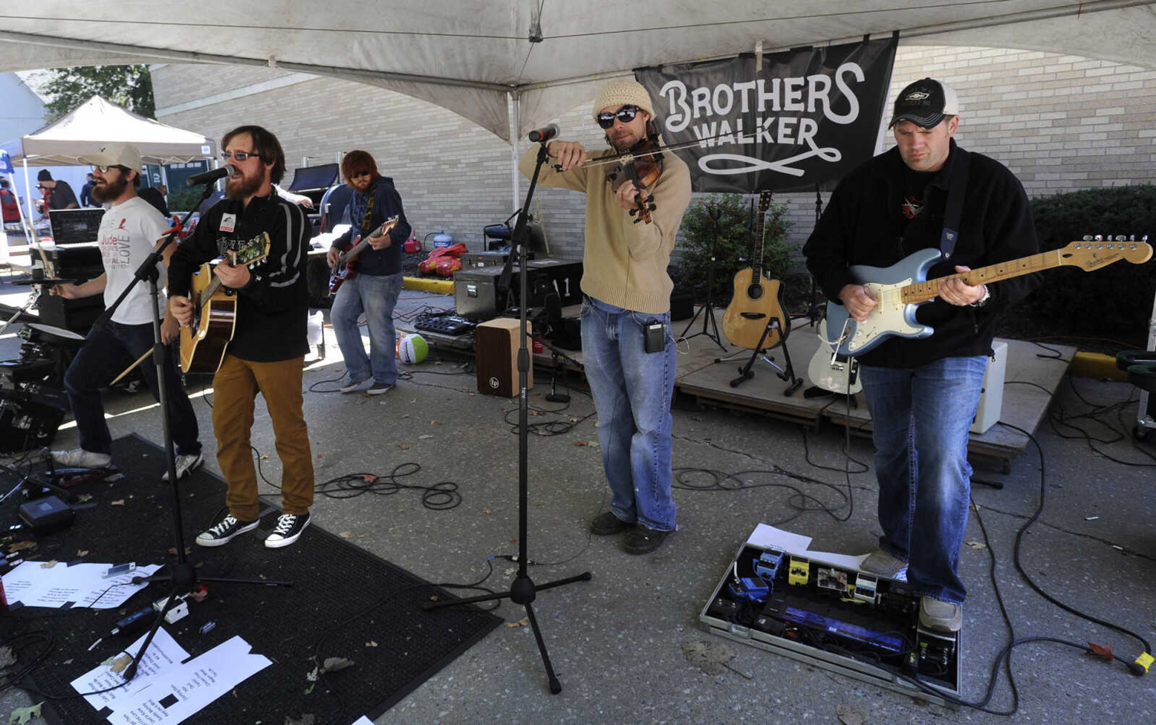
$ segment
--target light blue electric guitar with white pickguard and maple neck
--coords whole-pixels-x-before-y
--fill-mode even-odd
[[[852,266],[851,276],[858,284],[870,290],[879,305],[872,308],[866,320],[859,322],[847,314],[847,308],[843,305],[828,302],[827,342],[839,354],[855,357],[892,335],[913,338],[931,336],[934,330],[916,321],[916,309],[935,299],[939,285],[944,279],[958,278],[975,286],[1062,264],[1079,267],[1084,271],[1092,271],[1119,260],[1142,264],[1151,255],[1153,248],[1147,241],[1128,241],[1118,237],[1116,241],[1073,241],[1062,249],[1040,252],[936,279],[927,279],[927,270],[940,260],[939,249],[920,249],[891,267]]]

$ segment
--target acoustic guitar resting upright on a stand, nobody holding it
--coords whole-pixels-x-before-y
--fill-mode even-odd
[[[783,285],[778,279],[763,275],[763,218],[770,205],[771,192],[762,192],[758,195],[758,219],[750,240],[751,266],[735,274],[734,296],[722,315],[722,334],[732,345],[748,350],[776,347],[786,341],[791,331],[791,321],[783,314]],[[754,256],[755,239],[759,240],[757,257]],[[772,320],[778,320],[778,327],[768,329]]]

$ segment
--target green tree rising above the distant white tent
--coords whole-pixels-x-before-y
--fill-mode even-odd
[[[55,118],[92,96],[102,96],[144,118],[153,118],[156,112],[148,66],[75,66],[54,68],[52,75],[44,90],[52,96],[47,109]]]

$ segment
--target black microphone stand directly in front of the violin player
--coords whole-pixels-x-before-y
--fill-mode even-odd
[[[534,601],[539,591],[572,584],[575,582],[588,582],[591,580],[591,573],[584,571],[577,576],[570,576],[548,584],[534,584],[534,582],[529,578],[529,574],[526,571],[526,522],[529,509],[526,457],[529,436],[529,408],[526,399],[526,386],[529,373],[529,352],[526,350],[526,309],[529,307],[529,290],[527,281],[529,278],[529,274],[528,268],[526,267],[526,249],[529,247],[529,240],[527,239],[529,234],[526,230],[528,216],[526,214],[526,209],[529,209],[529,202],[534,197],[534,188],[538,186],[538,175],[548,158],[546,154],[546,144],[550,140],[549,136],[553,136],[553,134],[549,134],[547,137],[542,137],[541,145],[538,148],[538,162],[534,166],[534,175],[531,178],[529,188],[526,190],[526,202],[518,211],[518,222],[514,225],[512,237],[513,242],[517,245],[519,255],[518,264],[520,274],[518,277],[520,293],[519,299],[521,300],[518,305],[518,317],[521,322],[521,344],[518,347],[518,576],[516,576],[511,583],[510,591],[494,595],[482,595],[479,597],[466,597],[465,599],[425,601],[422,604],[422,608],[429,611],[505,598],[509,598],[510,601],[513,601],[514,604],[523,605],[526,608],[526,619],[529,620],[529,626],[534,630],[534,640],[538,641],[538,651],[542,655],[542,665],[546,667],[546,675],[549,679],[550,693],[557,695],[562,692],[562,683],[558,682],[557,675],[554,674],[554,665],[550,664],[550,655],[546,651],[546,641],[542,640],[542,630],[538,626],[538,619],[534,616],[534,608],[531,606],[531,603]],[[513,253],[511,252],[511,257],[512,256]]]

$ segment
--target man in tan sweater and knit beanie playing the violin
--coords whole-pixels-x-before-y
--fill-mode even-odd
[[[606,130],[609,151],[587,155],[577,141],[551,141],[553,166],[539,184],[586,194],[586,244],[583,252],[581,349],[586,380],[598,410],[602,468],[610,486],[610,510],[591,523],[591,532],[628,531],[630,554],[657,550],[674,531],[670,495],[670,396],[675,350],[670,332],[670,290],[666,274],[682,215],[690,203],[690,171],[667,152],[661,173],[645,194],[653,202],[650,221],[638,214],[640,189],[608,173],[613,164],[588,160],[658,141],[654,109],[640,83],[610,81],[594,102],[593,118]],[[534,171],[536,148],[518,167]]]

